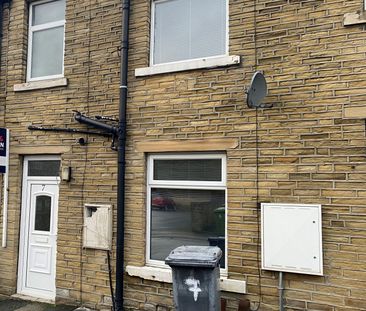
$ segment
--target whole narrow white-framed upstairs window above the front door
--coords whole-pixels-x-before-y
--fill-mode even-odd
[[[63,76],[65,2],[39,1],[30,5],[28,81]]]

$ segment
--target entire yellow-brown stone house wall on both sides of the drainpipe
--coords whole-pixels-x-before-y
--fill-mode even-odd
[[[239,65],[135,77],[136,68],[149,64],[150,3],[132,1],[126,264],[145,263],[148,150],[138,144],[234,139],[237,146],[226,150],[228,274],[247,282],[247,295],[224,292],[227,309],[237,310],[238,300],[248,298],[260,300],[260,310],[278,310],[277,273],[260,271],[259,278],[258,196],[258,202],[322,204],[324,276],[286,274],[287,310],[364,310],[366,34],[363,25],[342,23],[345,13],[360,8],[361,0],[230,0],[229,51],[240,55]],[[1,53],[6,76],[0,79],[0,117],[12,133],[9,238],[0,250],[3,295],[16,292],[22,157],[58,153],[73,177],[60,184],[57,301],[110,306],[106,252],[81,247],[82,207],[115,208],[116,152],[104,137],[88,135],[80,146],[80,135],[27,126],[85,129],[73,121],[73,110],[118,115],[120,12],[120,1],[68,0],[67,86],[14,92],[25,82],[28,14],[25,1],[11,3]],[[267,78],[271,109],[246,106],[256,70]],[[345,111],[355,106],[360,113],[348,118]],[[169,310],[172,304],[171,285],[126,276],[126,309]]]

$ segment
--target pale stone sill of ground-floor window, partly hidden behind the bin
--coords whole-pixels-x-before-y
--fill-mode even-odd
[[[172,271],[171,269],[156,268],[156,267],[137,267],[127,266],[126,272],[130,276],[136,276],[144,280],[172,283]],[[238,294],[246,294],[246,282],[240,280],[228,279],[226,277],[220,277],[220,289],[224,292],[232,292]]]

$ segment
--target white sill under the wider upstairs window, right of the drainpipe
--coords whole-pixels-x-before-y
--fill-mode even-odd
[[[143,77],[169,72],[230,66],[239,63],[240,63],[240,56],[238,55],[202,58],[183,62],[155,65],[152,67],[137,68],[135,69],[135,76]]]

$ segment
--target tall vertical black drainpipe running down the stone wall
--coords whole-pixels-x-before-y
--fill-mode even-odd
[[[118,122],[118,188],[117,188],[117,258],[116,258],[116,311],[123,310],[123,274],[125,239],[125,155],[126,155],[126,104],[128,70],[128,26],[130,1],[122,0],[121,85],[119,91]]]

